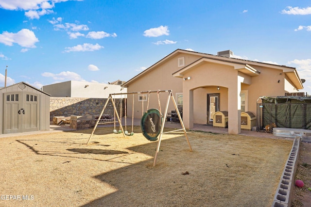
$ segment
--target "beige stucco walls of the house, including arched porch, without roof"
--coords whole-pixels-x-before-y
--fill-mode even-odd
[[[269,64],[252,64],[248,65],[255,68],[259,73],[245,74],[238,71],[237,68],[242,64],[239,60],[228,59],[222,61],[202,61],[201,57],[208,55],[188,54],[177,52],[168,56],[164,61],[156,63],[152,69],[141,73],[137,80],[128,85],[128,92],[148,91],[157,89],[172,89],[175,93],[183,93],[183,121],[186,128],[193,127],[193,123],[207,123],[207,94],[220,94],[220,111],[228,111],[229,133],[240,133],[241,122],[241,97],[240,92],[247,92],[247,111],[251,111],[256,115],[257,100],[259,96],[284,96],[285,88],[293,87],[291,82],[285,80],[286,75],[282,68],[269,67]],[[178,67],[177,60],[185,57],[185,66]],[[212,57],[217,58],[217,57]],[[192,64],[199,60],[197,64]],[[187,65],[189,65],[187,67]],[[183,78],[190,77],[190,80],[173,77],[172,74],[183,68],[187,68],[180,72]],[[220,90],[217,90],[217,87]],[[293,87],[294,88],[294,87]],[[167,96],[161,94],[161,109],[164,111]],[[147,103],[144,103],[146,107]],[[136,118],[142,115],[141,102],[135,96],[134,114]],[[128,107],[132,107],[132,98],[128,96]],[[156,94],[150,96],[149,108],[158,108]],[[145,110],[146,108],[144,108]],[[170,104],[168,111],[173,110],[173,104]],[[131,116],[128,109],[128,116]]]

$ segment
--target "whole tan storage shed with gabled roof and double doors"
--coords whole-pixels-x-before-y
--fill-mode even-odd
[[[50,130],[49,94],[25,82],[0,93],[0,134]]]

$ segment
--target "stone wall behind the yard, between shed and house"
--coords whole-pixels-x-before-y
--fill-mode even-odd
[[[54,116],[70,117],[71,115],[99,115],[104,107],[107,98],[74,98],[74,97],[50,97],[50,121]],[[121,98],[115,100],[118,113],[120,113]],[[124,100],[122,99],[124,114]],[[113,105],[109,101],[104,114],[113,117]]]

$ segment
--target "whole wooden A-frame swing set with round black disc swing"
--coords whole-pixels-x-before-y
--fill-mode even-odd
[[[150,97],[150,94],[153,94],[153,93],[157,93],[157,99],[158,99],[158,106],[159,106],[159,109],[148,109],[149,108],[149,97]],[[167,98],[167,102],[166,102],[166,107],[165,107],[165,111],[164,111],[164,116],[162,115],[161,113],[161,105],[160,105],[160,98],[159,98],[159,94],[160,93],[168,93],[168,98]],[[117,107],[116,107],[116,104],[115,104],[115,99],[113,99],[113,96],[117,96],[117,95],[130,95],[132,94],[133,95],[133,108],[132,108],[132,132],[128,132],[126,129],[126,98],[124,98],[124,118],[125,118],[125,130],[123,130],[123,127],[122,127],[122,123],[121,123],[121,118],[120,116],[122,116],[122,103],[121,103],[121,107],[120,107],[120,116],[119,116],[119,113],[118,113],[118,110],[117,110]],[[144,105],[143,105],[143,100],[142,100],[142,118],[140,120],[140,127],[141,127],[141,130],[142,130],[142,134],[144,137],[146,137],[149,141],[156,141],[158,140],[158,143],[157,143],[157,147],[156,147],[156,152],[155,152],[155,159],[154,159],[154,167],[155,167],[155,163],[156,163],[156,159],[157,159],[157,154],[160,150],[160,144],[161,144],[161,139],[162,139],[162,136],[163,134],[166,134],[166,133],[170,133],[170,132],[175,132],[175,131],[181,131],[183,130],[184,131],[184,134],[185,134],[185,137],[187,139],[187,142],[188,142],[188,145],[189,145],[189,148],[190,148],[190,151],[192,152],[192,148],[191,148],[191,145],[190,145],[190,142],[189,142],[189,138],[188,138],[188,135],[187,135],[187,131],[186,131],[186,128],[184,126],[184,123],[182,121],[182,118],[181,118],[181,115],[178,111],[178,108],[177,108],[177,104],[175,102],[175,99],[174,99],[174,96],[173,96],[173,92],[172,90],[157,90],[157,91],[141,91],[141,92],[130,92],[130,93],[119,93],[119,94],[109,94],[105,104],[104,104],[104,107],[103,107],[103,110],[101,112],[101,114],[99,115],[99,117],[101,117],[104,113],[104,110],[105,108],[107,107],[107,104],[109,102],[109,100],[112,102],[112,105],[113,105],[113,108],[114,108],[114,130],[113,132],[114,133],[122,133],[123,134],[123,137],[125,137],[125,135],[127,136],[133,136],[134,135],[134,132],[133,132],[133,127],[134,127],[134,95],[144,95],[144,94],[147,94],[148,95],[148,98],[147,98],[147,111],[144,111]],[[122,99],[122,98],[121,98]],[[180,120],[180,124],[181,124],[181,127],[180,129],[175,129],[175,130],[172,130],[172,131],[166,131],[166,132],[163,132],[164,130],[164,125],[165,125],[165,120],[167,118],[167,111],[168,111],[168,108],[169,108],[169,103],[170,103],[170,99],[173,101],[173,105],[175,107],[175,110],[177,112],[177,115],[178,115],[178,118]],[[116,118],[118,119],[118,123],[119,123],[119,131],[117,131],[116,129]],[[164,121],[163,121],[164,120]],[[97,120],[94,128],[93,128],[93,131],[87,141],[86,144],[89,143],[92,135],[94,134],[95,132],[95,129],[96,127],[98,126],[99,124],[99,121],[100,121],[100,118]],[[157,139],[157,137],[159,136],[159,139]]]

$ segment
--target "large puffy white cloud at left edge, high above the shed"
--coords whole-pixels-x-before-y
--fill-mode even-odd
[[[0,43],[4,45],[13,46],[13,43],[17,43],[21,47],[35,48],[35,43],[39,42],[35,33],[28,29],[22,29],[17,33],[3,32],[0,34]]]

